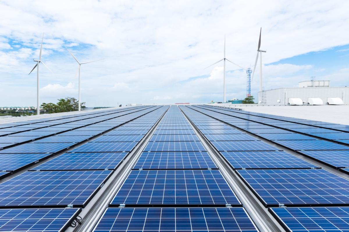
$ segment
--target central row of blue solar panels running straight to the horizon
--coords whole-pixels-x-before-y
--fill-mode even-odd
[[[257,231],[178,106],[109,206],[95,231]]]

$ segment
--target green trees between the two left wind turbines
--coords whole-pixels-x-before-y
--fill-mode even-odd
[[[54,103],[43,103],[41,106],[46,113],[60,113],[79,110],[79,101],[74,97],[66,97],[57,99],[58,102]],[[85,102],[81,103],[81,109],[85,109]]]

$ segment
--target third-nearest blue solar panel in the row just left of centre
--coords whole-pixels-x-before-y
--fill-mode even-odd
[[[65,153],[31,170],[114,170],[127,152]]]

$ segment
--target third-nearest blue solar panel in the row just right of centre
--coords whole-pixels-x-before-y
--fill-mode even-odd
[[[284,151],[221,152],[234,169],[317,168]]]

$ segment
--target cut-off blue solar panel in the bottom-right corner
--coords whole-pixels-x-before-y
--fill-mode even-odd
[[[270,208],[292,232],[344,232],[349,228],[349,207]]]

